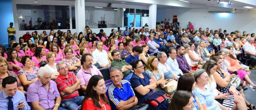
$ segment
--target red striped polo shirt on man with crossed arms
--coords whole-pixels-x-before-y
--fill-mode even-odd
[[[77,80],[76,80],[76,76],[75,73],[73,72],[68,72],[68,78],[66,78],[63,75],[59,75],[56,80],[55,80],[56,84],[57,84],[57,88],[59,91],[63,91],[64,89],[74,85]],[[77,97],[78,91],[75,90],[74,92],[72,92],[71,94],[65,94],[63,96],[61,96],[61,100],[68,100],[74,97]]]

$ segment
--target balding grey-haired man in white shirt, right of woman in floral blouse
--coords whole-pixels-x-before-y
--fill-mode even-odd
[[[159,52],[157,54],[157,59],[159,60],[159,64],[157,66],[158,71],[164,76],[164,79],[174,78],[174,80],[178,80],[174,73],[172,73],[170,66],[165,64],[168,59],[167,55],[164,52]]]

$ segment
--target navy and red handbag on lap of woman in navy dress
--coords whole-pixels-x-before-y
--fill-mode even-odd
[[[169,106],[163,90],[153,92],[146,98],[146,101],[150,104],[150,110],[167,110]]]

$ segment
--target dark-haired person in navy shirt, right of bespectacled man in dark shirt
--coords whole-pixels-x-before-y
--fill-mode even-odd
[[[139,60],[140,53],[142,53],[141,46],[134,46],[134,48],[132,48],[132,53],[126,57],[125,62],[131,64],[134,60]]]

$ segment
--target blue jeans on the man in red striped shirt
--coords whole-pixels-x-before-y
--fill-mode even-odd
[[[77,96],[72,99],[61,101],[61,107],[68,110],[76,110],[83,103],[84,96]]]

